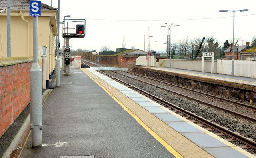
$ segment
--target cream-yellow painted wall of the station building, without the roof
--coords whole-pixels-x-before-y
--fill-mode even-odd
[[[50,16],[43,16],[43,13],[38,17],[38,46],[47,47],[46,80],[49,80],[49,74],[55,68],[54,39],[57,36],[56,23],[51,24],[51,18],[56,17],[58,13],[55,10],[46,12],[46,15]],[[24,19],[29,22],[29,26],[22,20],[19,12],[11,12],[11,57],[33,56],[33,17],[28,16],[28,11],[22,11],[22,14]],[[40,55],[38,52],[38,64],[42,68]],[[7,57],[6,13],[0,14],[0,58],[2,57]]]

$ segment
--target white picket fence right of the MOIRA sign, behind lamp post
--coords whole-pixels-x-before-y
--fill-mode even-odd
[[[231,75],[232,60],[217,60],[217,73]],[[235,60],[234,75],[256,78],[256,61]]]

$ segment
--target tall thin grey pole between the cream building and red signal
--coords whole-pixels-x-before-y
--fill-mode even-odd
[[[60,42],[60,0],[58,0],[58,27],[57,27],[57,60],[56,60],[56,86],[60,86],[60,53],[59,53],[59,42]]]

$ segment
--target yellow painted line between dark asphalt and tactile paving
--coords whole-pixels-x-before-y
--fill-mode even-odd
[[[172,146],[170,146],[166,141],[164,141],[158,134],[156,134],[153,130],[151,130],[138,116],[136,116],[131,110],[126,108],[124,104],[122,104],[116,97],[114,97],[106,88],[104,88],[99,82],[94,80],[92,76],[90,76],[88,73],[86,73],[82,68],[80,68],[85,74],[87,74],[94,82],[96,82],[105,92],[111,96],[124,110],[126,110],[145,130],[148,131],[158,142],[160,142],[170,153],[172,153],[176,158],[183,158],[182,155],[180,155]]]

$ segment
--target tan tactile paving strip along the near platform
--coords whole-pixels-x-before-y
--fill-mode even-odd
[[[208,152],[198,147],[196,144],[176,132],[170,126],[166,125],[156,116],[142,108],[136,102],[122,94],[116,88],[110,86],[108,83],[100,79],[98,76],[92,74],[90,71],[83,69],[88,75],[96,80],[101,86],[106,88],[116,99],[124,104],[130,111],[132,111],[142,122],[144,122],[151,130],[160,136],[166,143],[168,143],[174,150],[184,157],[196,158],[210,158],[213,157]]]

